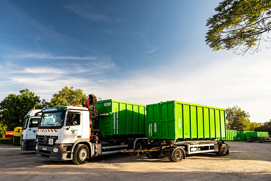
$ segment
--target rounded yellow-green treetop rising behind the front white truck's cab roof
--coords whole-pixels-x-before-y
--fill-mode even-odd
[[[53,95],[51,101],[48,103],[48,106],[56,107],[79,104],[82,98],[86,98],[86,94],[83,94],[83,90],[73,90],[73,87],[68,88],[65,86],[58,92],[58,94]]]

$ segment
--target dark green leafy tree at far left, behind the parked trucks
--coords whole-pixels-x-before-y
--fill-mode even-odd
[[[15,127],[21,126],[19,120],[39,103],[39,97],[28,89],[20,90],[19,95],[9,94],[0,103],[0,124],[6,126],[6,130],[13,131]]]

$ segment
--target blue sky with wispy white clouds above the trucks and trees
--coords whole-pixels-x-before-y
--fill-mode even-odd
[[[270,114],[270,49],[205,44],[217,1],[0,1],[0,100],[64,86],[142,104],[167,100]],[[268,46],[268,45],[267,45]]]

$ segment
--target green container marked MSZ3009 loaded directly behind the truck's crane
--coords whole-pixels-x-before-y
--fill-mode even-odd
[[[97,105],[99,105],[99,101]],[[98,109],[103,138],[145,137],[146,105],[119,100],[102,100]]]

